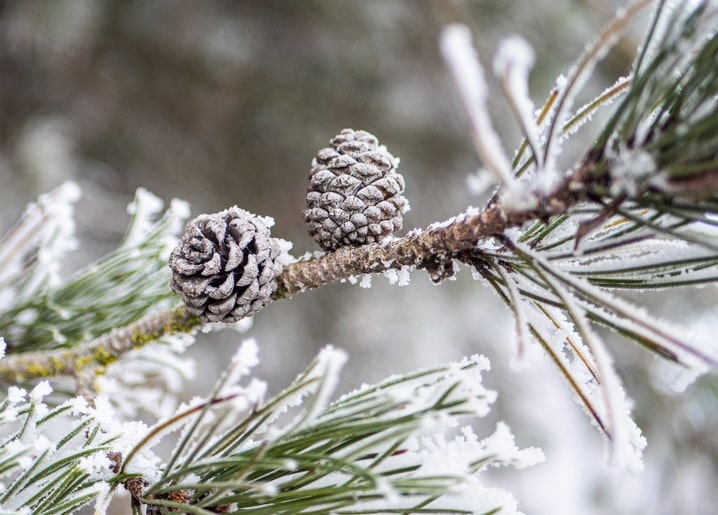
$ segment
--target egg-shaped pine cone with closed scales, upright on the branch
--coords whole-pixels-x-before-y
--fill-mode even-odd
[[[409,203],[395,159],[366,131],[344,129],[312,160],[304,221],[324,250],[382,241]]]

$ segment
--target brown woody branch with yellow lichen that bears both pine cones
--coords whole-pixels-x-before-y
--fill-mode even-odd
[[[540,199],[532,211],[511,211],[492,200],[483,211],[469,211],[403,238],[334,252],[287,266],[277,278],[273,300],[348,279],[382,273],[404,266],[425,269],[436,282],[453,273],[453,260],[466,250],[507,229],[533,220],[565,213],[586,199],[596,180],[593,166],[584,164],[569,175],[556,191]],[[87,368],[103,368],[123,354],[176,333],[191,333],[201,325],[184,306],[143,318],[127,327],[71,348],[9,354],[0,360],[0,382],[17,383],[56,376],[87,377]]]

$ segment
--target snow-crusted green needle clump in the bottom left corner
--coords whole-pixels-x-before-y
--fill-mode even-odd
[[[7,512],[51,513],[57,505],[75,513],[108,491],[110,450],[126,452],[143,434],[142,424],[120,422],[102,398],[96,407],[81,398],[50,407],[44,399],[51,391],[41,382],[29,394],[11,389],[0,402],[0,506]]]

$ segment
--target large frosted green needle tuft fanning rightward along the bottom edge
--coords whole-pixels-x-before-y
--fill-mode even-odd
[[[247,345],[238,356],[251,361]],[[486,358],[390,377],[329,403],[345,359],[342,351],[325,348],[284,392],[251,410],[224,409],[225,394],[188,407],[194,415],[176,419],[186,425],[170,468],[148,484],[143,501],[163,498],[174,488],[170,478],[184,478],[196,507],[241,496],[248,510],[276,505],[287,512],[342,513],[351,505],[353,511],[434,513],[471,507],[477,489],[486,488],[479,476],[490,464],[523,467],[542,460],[538,450],[519,450],[503,424],[484,440],[469,427],[449,440],[459,420],[486,416],[495,400],[481,385]],[[293,422],[278,429],[277,413],[294,413]],[[206,420],[197,423],[198,417]],[[227,470],[244,472],[227,476]],[[212,481],[223,486],[207,488]],[[318,490],[323,495],[312,498]],[[515,508],[510,494],[486,491],[496,493],[486,498],[490,509]]]

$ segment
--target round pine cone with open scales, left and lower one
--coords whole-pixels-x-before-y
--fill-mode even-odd
[[[282,271],[279,254],[261,217],[236,206],[200,215],[170,255],[170,286],[203,321],[236,322],[269,302]]]

